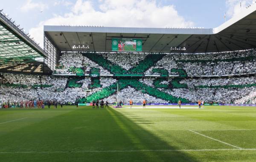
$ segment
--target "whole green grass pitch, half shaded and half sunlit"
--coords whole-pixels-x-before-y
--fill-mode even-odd
[[[256,108],[0,110],[1,162],[253,162]]]

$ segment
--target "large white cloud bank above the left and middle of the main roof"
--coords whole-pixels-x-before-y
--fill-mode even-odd
[[[102,0],[93,6],[90,0],[77,0],[71,11],[64,15],[54,15],[42,21],[30,34],[43,45],[44,25],[96,25],[115,27],[190,27],[194,23],[186,21],[177,13],[175,6],[159,6],[154,0]]]

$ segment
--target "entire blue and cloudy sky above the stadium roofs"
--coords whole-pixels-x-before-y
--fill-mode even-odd
[[[44,25],[215,28],[255,0],[0,0],[43,46]],[[225,14],[226,13],[226,14]]]

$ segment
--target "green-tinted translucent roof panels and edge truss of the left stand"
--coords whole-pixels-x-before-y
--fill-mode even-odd
[[[47,57],[47,53],[0,12],[0,65],[35,62],[38,57]]]

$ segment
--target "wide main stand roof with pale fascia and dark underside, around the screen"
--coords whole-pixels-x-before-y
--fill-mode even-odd
[[[175,47],[185,47],[185,53],[245,50],[256,48],[256,5],[217,28],[44,26],[44,33],[60,51],[111,51],[111,39],[119,37],[143,39],[143,52],[184,52]]]

